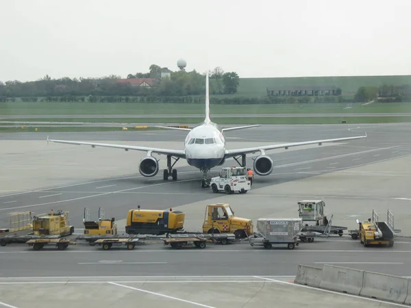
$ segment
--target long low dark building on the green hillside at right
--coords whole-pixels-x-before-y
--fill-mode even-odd
[[[269,97],[319,97],[324,95],[337,95],[336,86],[284,86],[267,88]]]

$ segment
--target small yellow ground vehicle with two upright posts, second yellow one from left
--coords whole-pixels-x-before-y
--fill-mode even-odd
[[[99,208],[99,220],[94,221],[90,219],[90,210],[84,208],[84,234],[85,235],[116,235],[117,224],[114,218],[105,219],[104,209]]]

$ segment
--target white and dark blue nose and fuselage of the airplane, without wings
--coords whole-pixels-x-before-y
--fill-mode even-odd
[[[184,141],[186,160],[190,166],[208,171],[225,158],[225,138],[215,123],[201,123],[188,133]]]

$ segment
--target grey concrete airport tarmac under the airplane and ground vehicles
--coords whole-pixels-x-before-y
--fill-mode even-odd
[[[256,220],[260,217],[297,217],[297,201],[304,198],[323,198],[326,203],[325,214],[334,214],[334,225],[355,229],[357,227],[355,220],[357,218],[366,220],[371,217],[372,209],[377,211],[380,220],[385,220],[386,210],[389,208],[395,215],[396,229],[402,229],[403,235],[411,235],[411,227],[408,224],[410,220],[408,208],[411,202],[408,179],[411,177],[411,172],[408,168],[404,168],[411,162],[411,125],[349,127],[264,125],[255,129],[227,133],[227,145],[232,149],[253,146],[257,142],[273,144],[361,136],[364,131],[368,136],[366,140],[307,146],[302,150],[271,151],[268,154],[275,162],[273,173],[268,177],[256,176],[253,188],[247,194],[228,196],[223,193],[213,194],[211,190],[202,189],[201,173],[181,161],[177,162],[180,164],[178,181],[163,181],[160,172],[156,177],[147,179],[136,174],[139,159],[144,153],[91,149],[87,146],[64,144],[47,145],[45,141],[47,134],[18,133],[13,134],[15,140],[10,140],[12,134],[7,136],[0,134],[0,158],[2,168],[5,168],[8,174],[8,177],[3,176],[3,172],[0,175],[1,194],[3,194],[0,196],[0,222],[7,224],[7,215],[15,211],[45,213],[50,209],[64,209],[70,211],[71,222],[76,229],[81,229],[84,207],[90,208],[92,215],[95,216],[98,208],[103,207],[106,216],[115,217],[119,225],[123,226],[127,211],[136,208],[139,204],[142,208],[149,209],[169,207],[173,207],[174,210],[181,209],[186,213],[186,229],[201,230],[204,210],[210,203],[229,203],[236,216],[251,218],[256,224]],[[135,140],[132,144],[149,142],[150,145],[161,145],[172,149],[182,148],[185,136],[184,133],[175,131],[50,134],[50,138],[64,140],[119,143],[130,143]],[[164,168],[164,158],[160,161],[160,170]],[[251,163],[252,160],[247,159],[247,165]],[[231,164],[236,163],[227,162],[226,165]],[[136,246],[134,251],[127,251],[125,248],[101,251],[98,247],[77,244],[69,246],[66,251],[56,251],[53,247],[45,247],[43,251],[33,251],[24,244],[10,244],[0,248],[0,277],[39,277],[40,275],[42,277],[119,275],[293,277],[297,271],[297,264],[316,266],[339,264],[411,277],[408,261],[411,246],[408,238],[398,239],[393,248],[364,248],[360,242],[348,237],[316,239],[313,243],[301,243],[292,251],[284,248],[279,246],[267,251],[241,243],[227,246],[209,244],[205,249],[187,248],[173,251],[168,246],[145,244]],[[36,253],[40,253],[42,257],[34,258]],[[57,253],[60,254],[58,257]],[[3,266],[4,264],[8,266]],[[15,290],[16,286],[10,285],[11,281],[5,282],[7,288],[12,288],[5,290]],[[319,290],[306,290],[302,287],[297,291],[301,294],[300,298],[297,298],[295,285],[275,282],[270,284],[273,289],[266,283],[261,293],[251,292],[256,294],[253,297],[247,295],[248,290],[251,290],[253,285],[257,285],[253,283],[245,284],[240,288],[233,287],[238,290],[238,294],[244,295],[244,297],[238,295],[236,299],[243,300],[242,304],[233,302],[231,287],[235,283],[225,283],[224,287],[216,287],[217,284],[203,286],[199,283],[201,287],[197,289],[195,283],[192,283],[190,287],[193,289],[176,287],[178,290],[169,287],[171,283],[159,283],[153,286],[153,289],[147,290],[181,297],[196,303],[199,300],[199,303],[209,307],[240,307],[245,305],[247,300],[249,301],[247,305],[260,305],[255,300],[262,300],[268,304],[260,307],[272,307],[273,299],[276,303],[283,300],[284,305],[301,305],[303,302],[307,303],[306,307],[318,307],[327,299],[334,307],[342,307],[342,305],[353,307],[376,305],[377,307],[380,304],[378,301],[372,302],[343,294],[337,296]],[[263,283],[259,283],[261,288]],[[87,287],[90,288],[90,285],[86,286],[84,291],[79,291],[78,285],[75,289],[64,291],[59,288],[58,290],[63,292],[62,294],[79,292],[79,296],[80,294],[85,296]],[[110,290],[105,292],[107,294],[112,292],[111,288],[114,286],[105,287]],[[134,287],[146,290],[141,284]],[[27,292],[32,290],[30,288],[34,286],[29,285]],[[245,289],[247,292],[240,292]],[[3,285],[0,287],[0,292],[1,290]],[[39,294],[44,294],[38,287],[36,290],[40,290]],[[116,305],[130,303],[127,300],[131,300],[132,297],[129,296],[133,293],[136,298],[146,294],[145,300],[149,300],[150,307],[156,307],[155,303],[158,302],[155,298],[162,296],[147,295],[147,292],[140,290],[128,289],[128,294],[118,294],[119,302]],[[203,294],[201,300],[205,298],[205,301],[201,301],[196,294]],[[215,296],[216,294],[230,294],[230,296],[226,301],[219,302],[223,296],[220,298]],[[264,294],[271,294],[271,298],[264,299]],[[287,297],[286,294],[294,295]],[[4,303],[14,305],[13,307],[21,308],[29,305],[29,302],[26,303],[21,298],[20,302],[16,302],[10,296],[1,295],[0,293],[0,298],[7,299]],[[96,297],[98,297],[97,293]],[[210,298],[216,298],[216,301],[210,302]],[[171,302],[171,305],[174,305],[174,302]],[[180,304],[184,307],[185,304],[177,302],[178,300],[175,300],[175,305]],[[37,303],[40,306],[40,298]],[[67,303],[69,305],[69,302]],[[164,305],[164,301],[161,303]],[[187,307],[195,307],[195,304],[186,304]],[[93,302],[92,305],[97,305],[97,302]],[[248,307],[247,305],[244,307]],[[116,306],[113,304],[113,307]],[[398,307],[398,305],[384,306],[383,304],[378,307]]]

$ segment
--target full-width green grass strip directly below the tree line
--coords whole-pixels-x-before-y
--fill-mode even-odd
[[[270,105],[211,105],[210,114],[404,113],[411,103],[323,103]],[[2,116],[75,116],[116,114],[204,114],[203,104],[179,103],[0,103]],[[22,117],[23,118],[23,117]]]

